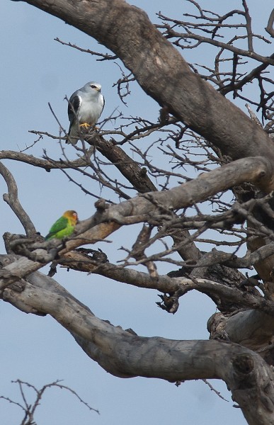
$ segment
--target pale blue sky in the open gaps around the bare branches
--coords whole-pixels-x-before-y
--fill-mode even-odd
[[[226,2],[203,1],[207,8]],[[266,17],[273,6],[265,0],[261,10],[260,2],[249,0],[254,9],[254,24],[259,32],[266,26]],[[161,11],[179,18],[185,2],[182,1],[132,1],[149,13],[156,22],[154,13]],[[147,6],[149,4],[149,6]],[[221,7],[219,5],[219,7]],[[241,8],[241,1],[229,1],[227,10]],[[58,126],[47,106],[50,102],[65,128],[67,103],[64,96],[83,86],[86,81],[100,81],[105,95],[105,110],[102,118],[118,107],[127,115],[146,115],[156,119],[159,106],[145,96],[137,86],[132,86],[128,108],[122,105],[113,88],[113,82],[120,78],[118,66],[108,62],[96,62],[91,55],[81,53],[54,41],[58,37],[91,50],[106,52],[87,35],[57,18],[21,2],[1,1],[1,149],[23,149],[35,140],[28,130],[42,130],[58,134]],[[266,50],[267,52],[267,50]],[[268,52],[269,53],[269,52]],[[198,62],[201,58],[187,52],[187,60]],[[202,60],[200,60],[202,62]],[[44,139],[29,154],[41,157],[43,149],[47,154],[61,157],[59,145],[54,140]],[[70,157],[75,152],[68,147]],[[58,171],[46,173],[25,164],[4,161],[18,182],[19,198],[25,210],[32,217],[35,226],[46,234],[52,222],[64,210],[76,209],[82,220],[92,215],[94,199],[85,196],[76,186]],[[91,183],[92,184],[92,183]],[[6,192],[6,184],[0,179],[0,192]],[[1,234],[23,232],[8,205],[0,203]],[[122,257],[120,246],[124,244],[125,233],[112,235],[113,244],[101,244],[110,261]],[[1,242],[1,252],[4,245]],[[161,273],[170,267],[161,266]],[[47,271],[47,270],[46,270]],[[132,288],[113,283],[100,276],[86,276],[84,273],[59,270],[57,281],[64,285],[81,302],[88,305],[101,319],[108,319],[115,325],[132,328],[142,336],[164,336],[171,339],[207,339],[206,322],[215,312],[215,305],[199,293],[190,293],[181,299],[181,307],[173,316],[166,314],[155,302],[159,300],[154,291]],[[60,390],[50,390],[42,400],[36,420],[39,425],[139,425],[176,424],[222,425],[245,424],[241,411],[232,407],[230,395],[220,381],[212,382],[225,402],[203,382],[185,382],[180,387],[154,379],[134,378],[122,380],[102,370],[91,361],[72,336],[51,317],[35,317],[19,312],[11,305],[0,304],[0,395],[20,401],[18,388],[11,380],[20,378],[37,387],[56,379],[64,380],[101,412],[89,412],[71,395]],[[32,402],[32,399],[28,400]],[[22,412],[4,400],[0,400],[0,422],[2,425],[19,424]]]

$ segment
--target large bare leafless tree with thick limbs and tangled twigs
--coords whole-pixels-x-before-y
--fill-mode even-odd
[[[117,82],[122,101],[136,80],[161,109],[155,123],[144,117],[120,121],[117,116],[112,117],[119,123],[115,130],[82,133],[74,161],[65,148],[62,160],[46,153],[38,159],[1,152],[1,159],[57,168],[96,198],[96,214],[80,222],[70,239],[44,242],[19,203],[16,182],[1,164],[8,185],[4,199],[26,234],[4,235],[1,297],[23,312],[50,314],[87,356],[115,376],[221,379],[249,424],[274,424],[274,55],[261,55],[253,47],[254,40],[270,44],[274,16],[270,13],[265,23],[266,33],[257,35],[246,0],[224,16],[188,1],[193,13],[180,20],[159,13],[157,26],[122,0],[26,1],[113,52],[91,52],[100,60],[122,61],[130,70],[122,70]],[[212,63],[185,62],[181,50],[207,44],[215,49]],[[243,101],[246,113],[234,104]],[[65,132],[64,137],[35,132],[66,139]],[[161,154],[165,166],[151,152]],[[89,192],[75,173],[96,181],[98,192]],[[111,263],[102,251],[79,248],[136,223],[143,227],[132,247],[124,246],[123,263]],[[240,248],[245,250],[242,256]],[[158,273],[161,262],[170,263],[169,275]],[[50,276],[38,271],[45,264],[51,264]],[[176,313],[185,293],[198,290],[219,310],[207,323],[210,340],[144,338],[114,327],[53,279],[57,265],[157,290],[159,307],[169,313]],[[246,268],[255,268],[256,274],[245,276],[241,270]]]

